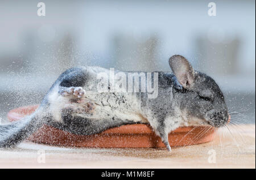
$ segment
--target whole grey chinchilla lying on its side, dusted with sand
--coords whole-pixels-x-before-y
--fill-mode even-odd
[[[111,127],[149,123],[170,150],[168,133],[177,127],[220,127],[228,122],[224,97],[214,80],[194,71],[180,55],[172,56],[169,63],[174,74],[147,74],[139,79],[137,91],[132,92],[127,92],[130,82],[122,87],[119,80],[112,83],[108,69],[71,68],[60,75],[34,114],[0,126],[0,147],[13,147],[44,124],[73,134],[91,135]],[[104,84],[108,87],[102,91]],[[149,97],[142,91],[148,84],[157,85],[156,96]],[[119,87],[118,91],[113,87]]]

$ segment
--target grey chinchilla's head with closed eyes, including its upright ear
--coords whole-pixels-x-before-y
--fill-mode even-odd
[[[217,83],[206,74],[194,71],[181,55],[172,56],[169,63],[184,89],[179,93],[181,112],[188,119],[200,119],[214,127],[224,126],[229,114]]]

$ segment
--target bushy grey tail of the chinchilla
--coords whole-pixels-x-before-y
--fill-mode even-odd
[[[38,108],[33,114],[20,119],[19,121],[0,125],[0,148],[15,147],[33,132],[42,127],[46,117],[42,114],[42,108]]]

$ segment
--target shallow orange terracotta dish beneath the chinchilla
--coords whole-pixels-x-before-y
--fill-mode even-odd
[[[10,121],[31,114],[38,105],[13,109],[8,113]],[[170,132],[171,147],[193,145],[210,142],[213,139],[214,128],[207,130],[206,126],[179,127]],[[189,132],[190,131],[190,132]],[[189,133],[188,133],[189,132]],[[200,135],[199,135],[200,134]],[[28,138],[31,142],[60,145],[66,147],[92,148],[152,148],[164,147],[162,140],[154,134],[149,125],[136,124],[114,127],[95,135],[74,135],[57,128],[44,125]]]

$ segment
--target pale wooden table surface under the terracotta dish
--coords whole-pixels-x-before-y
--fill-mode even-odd
[[[213,142],[166,149],[63,148],[22,143],[0,149],[0,168],[255,168],[255,125],[229,126]],[[214,163],[215,162],[215,163]]]

